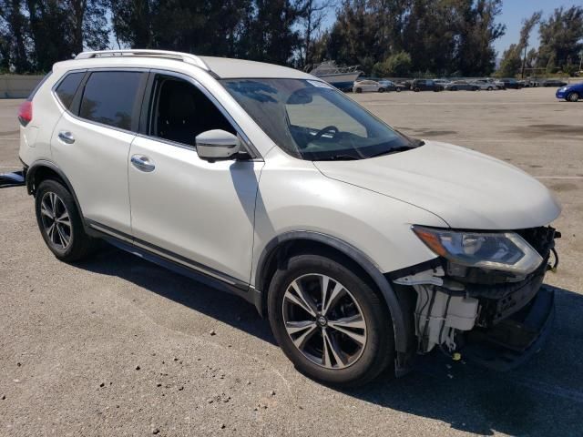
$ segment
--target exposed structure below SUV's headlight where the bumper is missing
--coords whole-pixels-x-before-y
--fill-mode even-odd
[[[557,269],[555,239],[560,233],[550,227],[515,232],[543,259],[527,275],[439,259],[430,269],[393,279],[394,283],[411,286],[417,292],[414,330],[418,353],[437,347],[457,359],[460,356],[457,352],[476,340],[516,351],[526,350],[537,340],[540,327],[534,327],[535,316],[531,313],[535,306],[552,304],[552,299],[548,303],[546,298],[536,298],[547,270]],[[520,319],[517,315],[524,317]]]

